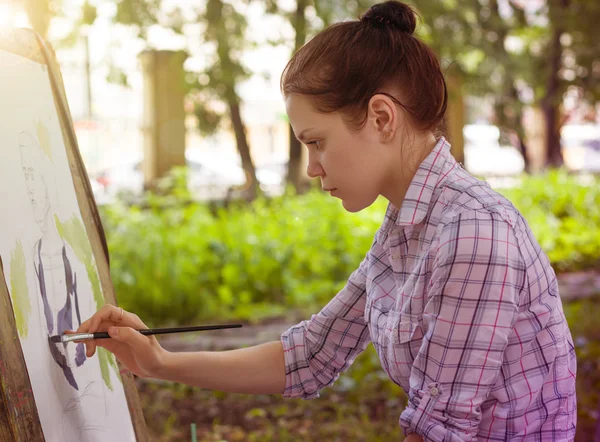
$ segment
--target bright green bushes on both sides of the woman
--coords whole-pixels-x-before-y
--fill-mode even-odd
[[[386,207],[380,199],[350,214],[317,191],[215,207],[183,204],[177,189],[175,197],[149,196],[145,209],[102,211],[119,303],[152,325],[315,311],[358,266]],[[595,181],[557,171],[503,193],[558,271],[598,263]]]

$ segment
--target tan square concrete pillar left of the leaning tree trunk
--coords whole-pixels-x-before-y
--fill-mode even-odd
[[[139,55],[144,75],[142,170],[146,188],[172,167],[185,165],[186,58],[184,52],[176,51],[149,50]]]

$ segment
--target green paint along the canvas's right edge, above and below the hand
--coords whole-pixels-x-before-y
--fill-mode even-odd
[[[85,227],[81,220],[76,216],[73,216],[67,222],[62,223],[58,217],[54,215],[54,220],[61,238],[71,246],[77,258],[85,265],[88,279],[92,285],[92,292],[94,293],[96,310],[99,310],[104,305],[104,295],[102,294],[102,288],[100,287],[100,278],[98,277],[98,271],[94,262],[94,254]],[[114,369],[117,374],[117,379],[121,380],[121,376],[119,376],[119,367],[117,366],[115,358],[105,349],[98,348],[98,360],[100,362],[102,379],[106,386],[112,390],[113,387],[112,382],[110,381],[109,366]]]

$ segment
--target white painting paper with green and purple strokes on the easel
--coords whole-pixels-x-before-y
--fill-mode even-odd
[[[90,251],[47,68],[0,50],[0,257],[47,442],[135,441],[114,357],[103,377],[98,353],[48,342],[100,305]]]

